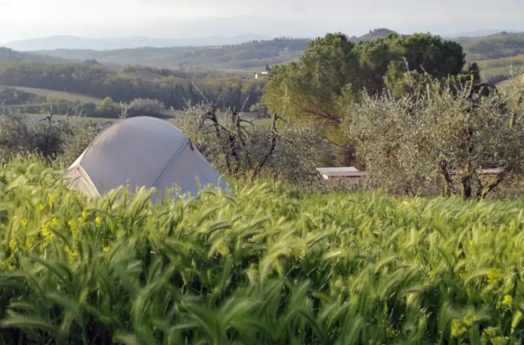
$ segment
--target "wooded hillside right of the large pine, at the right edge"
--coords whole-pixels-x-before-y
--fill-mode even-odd
[[[524,33],[498,33],[470,39],[461,43],[466,58],[473,60],[498,59],[524,54]]]

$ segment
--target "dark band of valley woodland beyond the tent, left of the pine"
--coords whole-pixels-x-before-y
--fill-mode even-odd
[[[0,84],[81,93],[101,99],[110,97],[126,103],[137,98],[157,99],[174,109],[183,109],[188,101],[209,101],[219,107],[248,110],[259,101],[264,90],[264,80],[209,75],[200,81],[172,75],[149,80],[103,66],[31,62],[1,63]]]

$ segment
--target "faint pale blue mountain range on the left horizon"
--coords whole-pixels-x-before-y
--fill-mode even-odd
[[[54,50],[54,49],[91,49],[114,50],[140,47],[179,47],[179,46],[222,46],[240,44],[251,40],[271,39],[260,35],[210,36],[195,38],[149,38],[149,37],[116,37],[116,38],[83,38],[76,36],[49,36],[5,43],[4,46],[19,51]]]

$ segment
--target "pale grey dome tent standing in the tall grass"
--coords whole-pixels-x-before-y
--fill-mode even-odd
[[[166,188],[196,196],[200,186],[228,189],[189,137],[166,120],[133,117],[100,133],[66,173],[71,187],[89,197],[119,186],[134,190],[155,187],[163,199]]]

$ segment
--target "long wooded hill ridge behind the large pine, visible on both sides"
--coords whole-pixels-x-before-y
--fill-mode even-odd
[[[350,37],[353,43],[386,36],[393,31],[387,28],[370,30],[361,37]],[[18,53],[0,51],[9,58],[3,60],[64,62],[96,59],[110,67],[145,65],[160,68],[205,67],[221,69],[246,69],[256,71],[266,65],[282,64],[299,58],[307,48],[309,38],[275,38],[249,41],[243,44],[203,47],[135,48],[116,50],[58,49]],[[452,39],[462,44],[466,60],[498,59],[524,54],[524,33],[499,33],[486,37]]]

